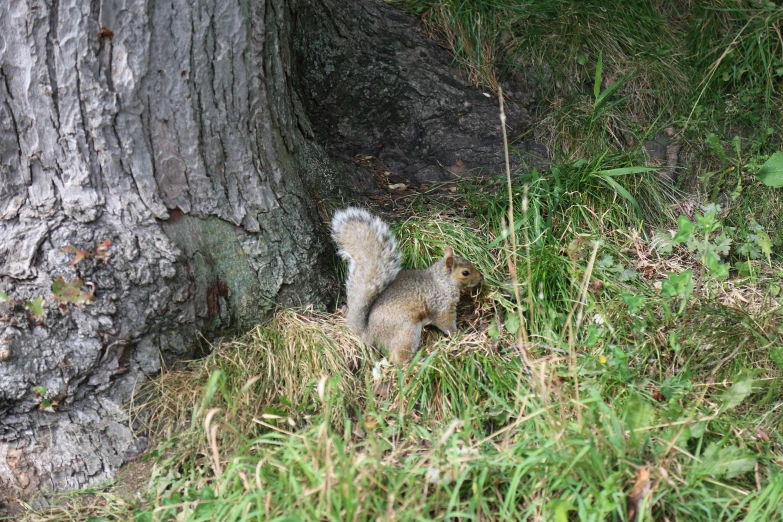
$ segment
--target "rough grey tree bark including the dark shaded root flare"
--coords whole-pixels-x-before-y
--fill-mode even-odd
[[[143,451],[128,403],[199,329],[328,306],[314,200],[355,182],[346,159],[498,165],[494,105],[372,0],[0,3],[0,504]],[[60,276],[93,300],[58,307]]]

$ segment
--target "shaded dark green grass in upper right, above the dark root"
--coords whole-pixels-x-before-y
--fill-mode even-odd
[[[670,129],[699,156],[714,133],[768,156],[783,142],[783,6],[779,2],[397,0],[445,40],[477,85],[532,96],[521,139],[588,161],[626,153]],[[620,87],[596,110],[593,89]],[[752,160],[753,158],[748,158]],[[692,164],[687,182],[709,167]],[[707,184],[710,188],[715,183]],[[720,190],[728,187],[720,186]]]

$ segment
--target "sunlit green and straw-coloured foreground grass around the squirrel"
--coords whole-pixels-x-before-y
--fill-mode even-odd
[[[557,202],[536,176],[520,172],[513,187],[530,198],[515,206],[531,252],[518,265],[524,302],[528,261],[535,282],[530,367],[503,243],[489,246],[504,189],[466,184],[461,211],[396,227],[408,266],[453,245],[486,274],[460,307],[459,335],[428,331],[398,369],[332,316],[282,310],[155,382],[145,407],[162,439],[145,495],[93,489],[27,519],[619,521],[645,472],[645,520],[780,517],[783,343],[770,287],[781,267],[705,276],[678,314],[655,281],[698,272],[698,256],[656,256],[633,207],[591,176],[578,183],[593,194]],[[583,312],[569,316],[585,277]],[[628,296],[644,300],[632,309]]]

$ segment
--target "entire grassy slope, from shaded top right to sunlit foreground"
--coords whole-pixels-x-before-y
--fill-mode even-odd
[[[26,516],[627,520],[630,505],[647,520],[783,517],[783,212],[780,189],[755,179],[783,142],[783,9],[622,5],[404,3],[477,83],[559,82],[538,93],[553,168],[513,176],[521,327],[514,249],[497,240],[504,184],[420,198],[397,225],[406,262],[451,244],[487,276],[460,336],[429,332],[403,371],[333,316],[280,311],[156,381],[148,492],[108,486]],[[614,170],[646,165],[638,144],[663,128],[691,159],[687,198]],[[723,209],[706,239],[673,244],[666,231],[687,229],[676,216],[706,227],[710,201]],[[676,284],[688,270],[692,284]]]

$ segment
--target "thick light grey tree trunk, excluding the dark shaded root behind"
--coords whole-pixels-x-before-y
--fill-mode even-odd
[[[0,277],[16,300],[0,326],[0,490],[76,488],[144,448],[124,406],[191,355],[196,329],[327,304],[331,248],[296,157],[285,2],[0,9]],[[105,239],[108,263],[69,267],[65,248]],[[94,300],[28,313],[59,276]]]

